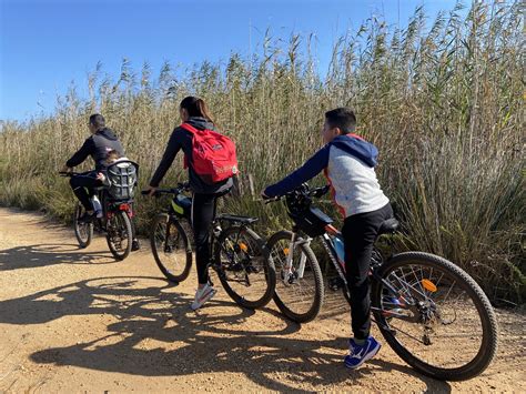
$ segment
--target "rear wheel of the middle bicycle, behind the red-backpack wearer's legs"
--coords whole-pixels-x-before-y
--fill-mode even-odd
[[[240,306],[266,305],[274,293],[275,269],[264,241],[251,229],[225,229],[215,247],[215,269],[226,293]]]

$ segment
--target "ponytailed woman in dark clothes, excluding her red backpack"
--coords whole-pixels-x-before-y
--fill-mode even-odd
[[[198,130],[214,130],[214,124],[208,113],[206,104],[195,97],[188,97],[181,101],[180,115],[183,123],[189,123]],[[159,183],[162,181],[175,155],[180,150],[186,159],[192,158],[191,132],[178,127],[173,130],[168,142],[161,163],[150,181],[150,195],[153,195]],[[209,184],[205,183],[194,171],[192,160],[186,160],[189,166],[190,189],[192,198],[192,226],[195,240],[195,263],[198,265],[199,287],[192,310],[201,307],[213,297],[216,290],[210,284],[208,267],[210,263],[209,230],[215,218],[215,203],[220,195],[229,192],[232,188],[232,178]]]

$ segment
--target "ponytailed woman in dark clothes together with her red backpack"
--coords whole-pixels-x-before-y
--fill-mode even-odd
[[[164,151],[161,163],[150,181],[150,194],[161,183],[175,155],[184,153],[184,166],[189,170],[192,196],[192,228],[195,240],[195,262],[199,287],[191,305],[200,309],[212,299],[216,290],[209,280],[210,262],[209,230],[215,219],[218,198],[232,188],[232,176],[237,172],[235,145],[226,137],[215,131],[214,123],[202,99],[186,97],[181,101],[182,124],[176,127]]]

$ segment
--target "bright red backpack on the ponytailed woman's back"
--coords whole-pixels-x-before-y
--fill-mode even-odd
[[[205,183],[213,184],[237,174],[235,144],[231,139],[213,130],[198,130],[189,123],[182,123],[181,128],[193,134],[190,160]],[[184,156],[184,168],[188,166],[189,158]]]

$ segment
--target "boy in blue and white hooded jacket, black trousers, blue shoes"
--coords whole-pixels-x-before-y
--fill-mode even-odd
[[[381,347],[370,335],[367,274],[380,226],[393,216],[390,200],[374,171],[378,151],[372,143],[353,134],[355,128],[356,118],[352,110],[337,108],[326,112],[322,130],[325,145],[301,168],[262,192],[264,199],[283,195],[322,171],[330,182],[334,202],[344,216],[342,234],[354,334],[345,357],[345,365],[350,368],[372,358]]]

